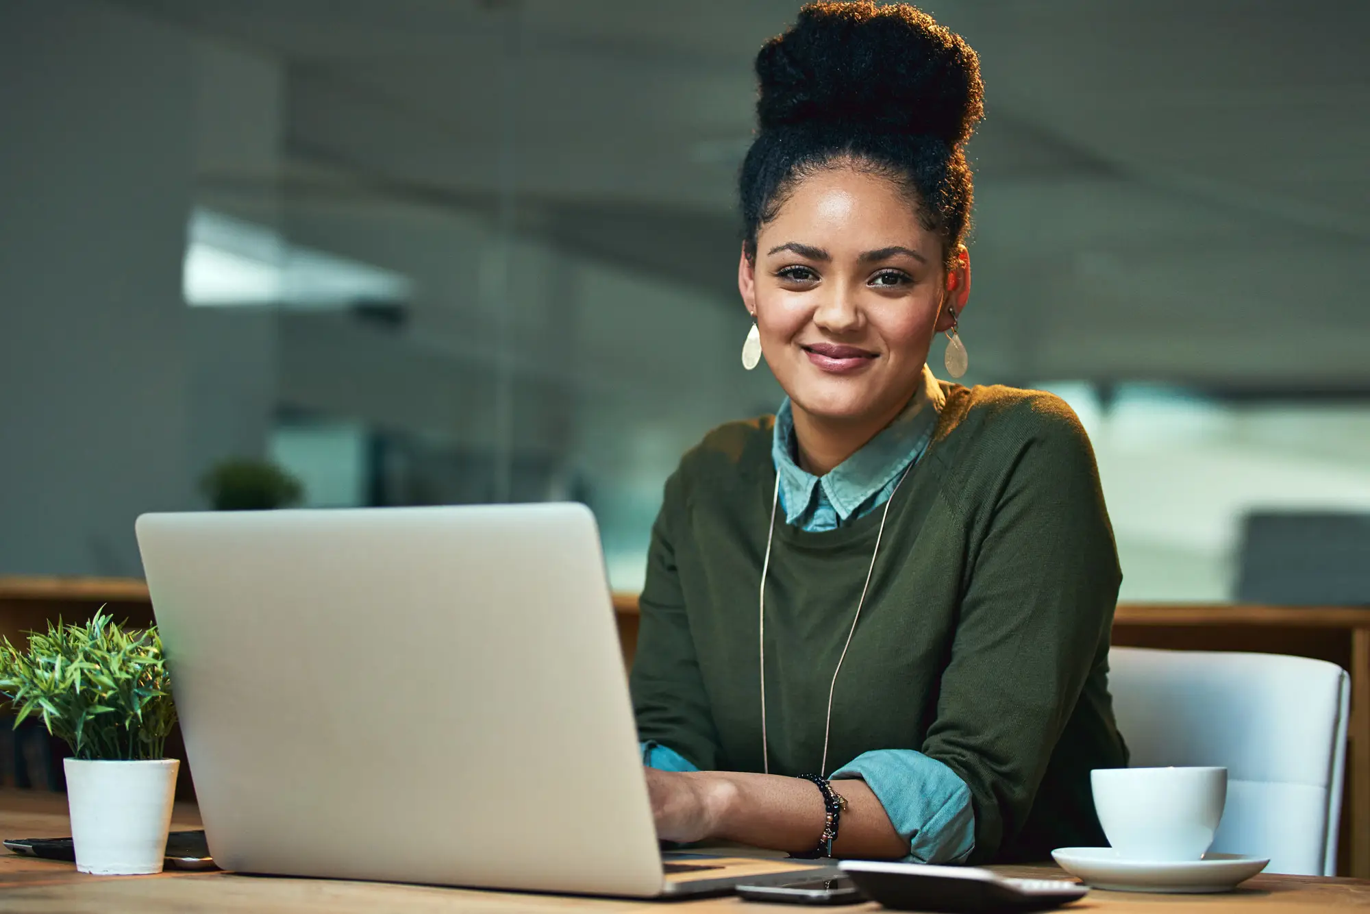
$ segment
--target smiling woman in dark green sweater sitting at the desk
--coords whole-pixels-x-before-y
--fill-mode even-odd
[[[978,59],[908,5],[815,3],[756,58],[738,288],[788,399],[666,484],[633,700],[658,833],[929,863],[1099,844],[1126,765],[1121,573],[1056,397],[937,381]],[[959,363],[958,363],[959,362]]]

